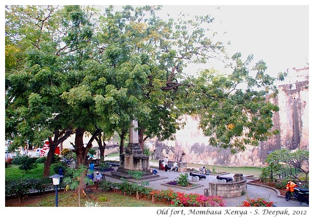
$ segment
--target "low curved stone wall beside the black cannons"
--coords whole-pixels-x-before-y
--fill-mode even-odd
[[[235,174],[232,182],[209,183],[209,188],[204,189],[205,196],[218,195],[224,198],[239,197],[244,192],[247,192],[247,179],[241,173]]]

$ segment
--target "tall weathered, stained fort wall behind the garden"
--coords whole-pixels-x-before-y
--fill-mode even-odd
[[[274,113],[274,129],[280,134],[260,142],[258,147],[247,146],[242,153],[231,154],[229,150],[208,145],[208,137],[198,127],[199,121],[185,116],[186,125],[175,134],[174,141],[152,141],[154,159],[168,156],[169,160],[182,157],[183,162],[221,166],[262,166],[269,151],[287,148],[309,147],[309,82],[308,67],[289,71],[290,78],[278,85],[279,94],[268,100],[279,106]],[[293,78],[292,78],[293,77]],[[182,151],[185,153],[182,156]]]

